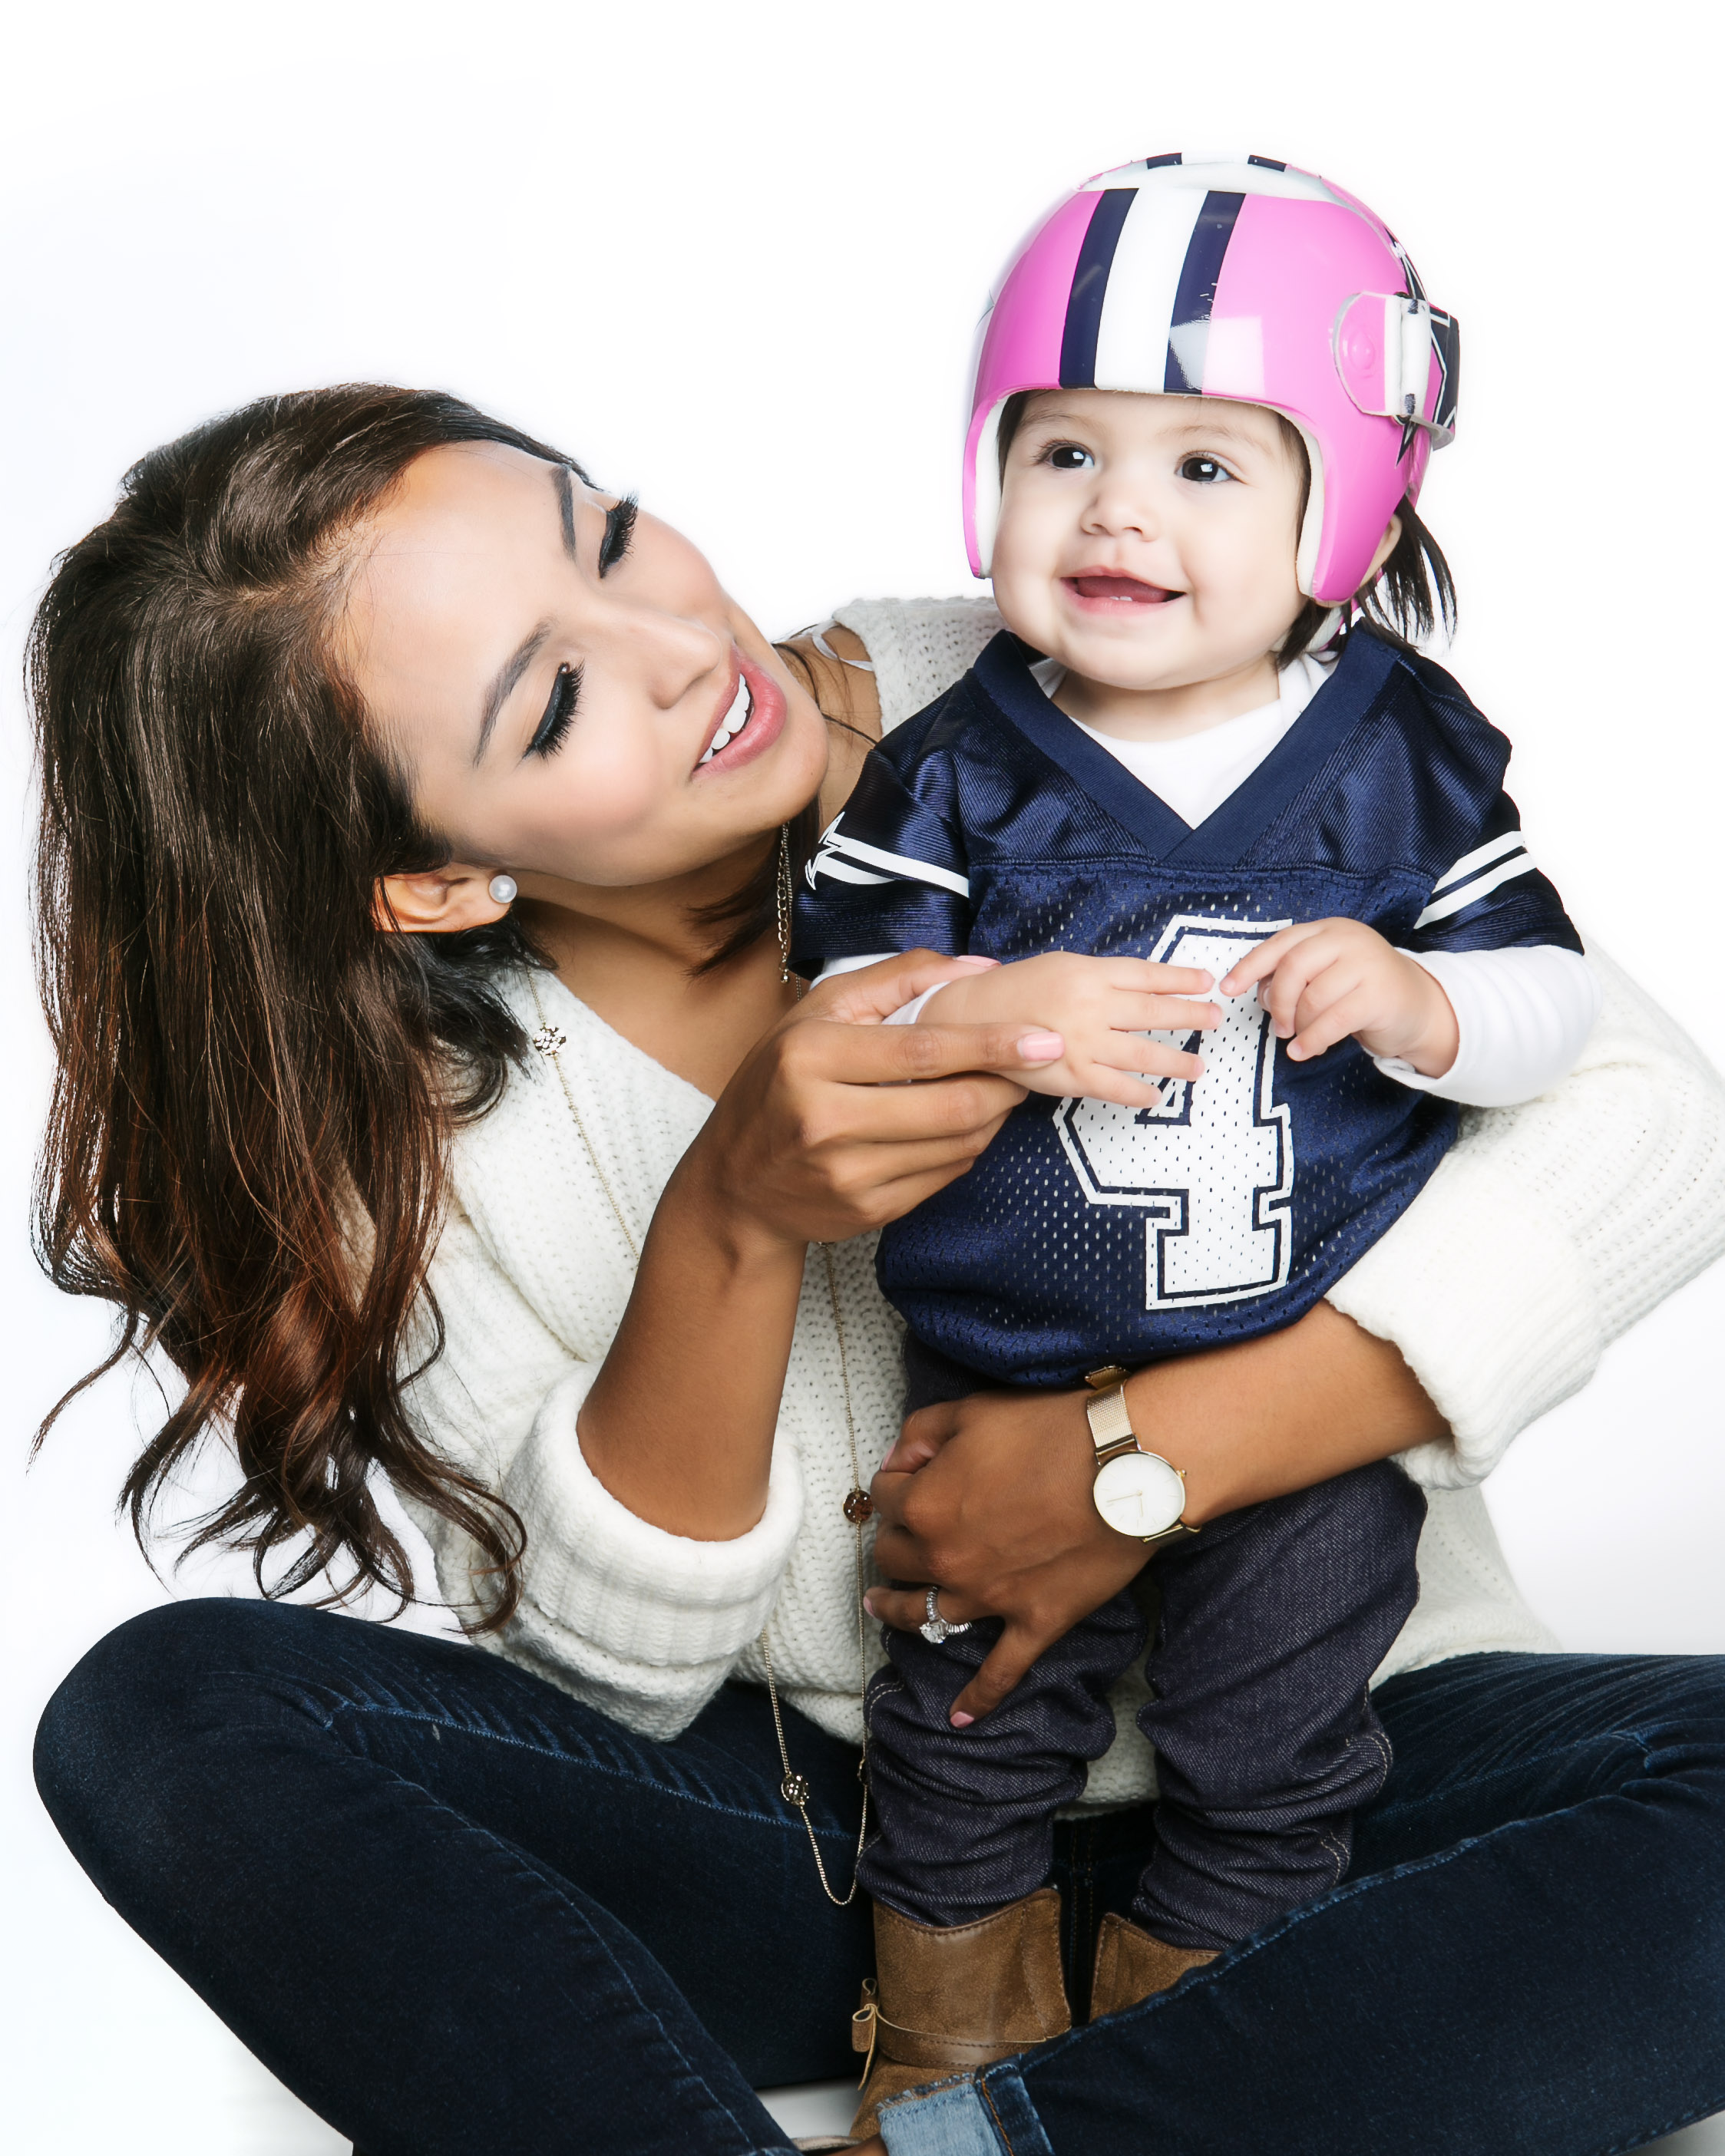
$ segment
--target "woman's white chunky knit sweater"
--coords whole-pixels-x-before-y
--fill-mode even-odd
[[[998,627],[988,602],[867,602],[839,617],[867,645],[886,724],[925,705]],[[1552,1645],[1505,1570],[1477,1483],[1512,1438],[1578,1391],[1604,1345],[1725,1246],[1725,1089],[1699,1050],[1598,951],[1604,1009],[1563,1087],[1524,1108],[1464,1110],[1432,1181],[1330,1302],[1397,1343],[1453,1442],[1404,1455],[1425,1485],[1421,1598],[1380,1675],[1488,1647]],[[515,981],[561,1063],[636,1240],[709,1110],[556,979]],[[852,1483],[839,1339],[819,1253],[804,1276],[768,1509],[735,1542],[666,1535],[589,1473],[576,1416],[623,1315],[632,1259],[556,1072],[533,1061],[468,1130],[433,1287],[448,1332],[414,1404],[436,1445],[526,1522],[520,1615],[492,1645],[647,1736],[675,1736],[729,1675],[761,1680],[772,1619],[781,1690],[860,1740]],[[873,1238],[837,1283],[862,1479],[899,1425],[901,1326]],[[699,1442],[699,1432],[690,1434]],[[472,1548],[414,1507],[444,1595],[470,1602]],[[873,1628],[871,1628],[873,1630]],[[873,1641],[869,1654],[878,1656]],[[1087,1805],[1154,1789],[1117,1692],[1119,1738]]]

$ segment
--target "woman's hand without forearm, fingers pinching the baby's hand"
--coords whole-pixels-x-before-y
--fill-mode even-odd
[[[774,1246],[897,1220],[983,1151],[1063,1041],[1024,1024],[886,1026],[988,962],[910,951],[811,990],[744,1059],[675,1181]]]

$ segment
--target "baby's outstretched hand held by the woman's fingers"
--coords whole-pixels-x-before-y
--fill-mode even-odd
[[[1220,1024],[1214,1003],[1203,996],[1214,975],[1195,966],[1154,966],[1143,957],[1080,957],[1050,951],[992,966],[964,981],[949,981],[919,1020],[925,1026],[1044,1026],[1063,1041],[1054,1063],[1013,1072],[1033,1093],[1082,1093],[1115,1100],[1123,1108],[1154,1108],[1162,1097],[1141,1072],[1160,1078],[1197,1078],[1203,1063],[1147,1041],[1151,1028],[1201,1033]]]

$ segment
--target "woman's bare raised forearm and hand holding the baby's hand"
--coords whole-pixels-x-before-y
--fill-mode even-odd
[[[636,1518],[748,1533],[809,1242],[895,1220],[964,1175],[1063,1052],[1022,1026],[886,1026],[977,962],[914,951],[813,990],[724,1087],[653,1212],[634,1294],[580,1410],[586,1464]]]

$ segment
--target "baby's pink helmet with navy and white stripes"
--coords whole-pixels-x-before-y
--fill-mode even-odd
[[[1020,248],[983,319],[964,539],[988,576],[1000,407],[1018,390],[1233,397],[1305,438],[1300,591],[1354,597],[1455,431],[1460,334],[1352,194],[1272,157],[1177,151],[1100,172]]]

